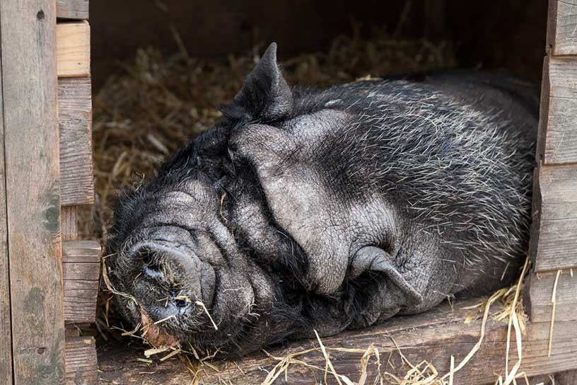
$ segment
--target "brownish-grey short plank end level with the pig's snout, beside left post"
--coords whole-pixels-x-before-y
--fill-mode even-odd
[[[96,241],[63,242],[62,265],[66,323],[94,322],[100,279],[100,245]]]

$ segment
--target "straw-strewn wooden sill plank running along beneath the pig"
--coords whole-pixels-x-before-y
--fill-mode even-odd
[[[322,341],[326,347],[354,348],[361,351],[358,353],[330,351],[331,362],[336,372],[346,375],[351,381],[358,381],[362,351],[366,350],[371,343],[380,352],[382,372],[387,371],[400,377],[407,373],[409,367],[402,364],[397,350],[398,345],[409,362],[418,364],[421,360],[428,360],[439,373],[444,374],[450,369],[450,355],[455,355],[455,362],[458,364],[479,339],[479,320],[466,325],[463,322],[466,311],[458,309],[457,306],[460,307],[460,304],[455,305],[455,311],[450,311],[446,305],[442,306],[446,314],[452,314],[451,317],[446,318],[446,320],[453,319],[452,322],[431,324],[426,320],[427,314],[419,314],[392,320],[395,323],[399,319],[404,322],[412,320],[402,330],[397,330],[398,323],[394,328],[384,323],[360,331],[346,331],[339,335],[322,338]],[[416,320],[422,321],[423,326],[415,327]],[[556,324],[555,331],[552,356],[547,357],[549,324],[531,323],[528,325],[527,333],[523,337],[523,364],[520,371],[527,372],[529,376],[537,376],[577,367],[577,355],[574,354],[577,349],[577,335],[574,333],[574,323],[559,322]],[[286,347],[274,347],[268,351],[276,357],[286,357],[286,355],[302,352],[311,347],[319,347],[316,340],[289,343]],[[489,321],[486,325],[484,343],[472,360],[455,374],[454,384],[480,385],[488,381],[494,384],[496,374],[504,372],[505,352],[506,323]],[[165,362],[155,361],[153,364],[138,362],[136,358],[142,357],[142,350],[135,350],[126,343],[105,345],[101,347],[99,354],[100,375],[103,381],[139,385],[187,384],[194,377],[186,365],[177,358]],[[516,359],[514,338],[510,357],[509,367],[511,368]],[[300,355],[298,359],[320,368],[325,367],[325,358],[319,350]],[[375,358],[372,357],[368,365],[367,384],[372,384],[375,379],[377,369],[375,362]],[[208,384],[260,384],[267,376],[267,371],[276,363],[278,361],[263,353],[256,353],[236,361],[217,360],[211,364],[218,368],[218,372],[214,372],[207,366],[201,367],[197,380]],[[288,381],[285,382],[284,374],[281,374],[276,383],[317,384],[323,383],[323,377],[324,374],[317,369],[295,364],[289,367]]]

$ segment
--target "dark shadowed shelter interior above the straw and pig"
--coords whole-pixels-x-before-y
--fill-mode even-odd
[[[279,55],[326,51],[330,42],[385,28],[395,38],[448,40],[461,67],[538,81],[547,0],[98,0],[91,1],[95,89],[139,47],[223,57],[276,41]]]

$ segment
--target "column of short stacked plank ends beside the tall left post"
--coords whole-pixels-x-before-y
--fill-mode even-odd
[[[78,207],[94,202],[91,25],[88,0],[58,0],[57,75],[62,191],[62,269],[66,384],[98,381],[95,340],[80,327],[95,320],[100,245],[78,239]]]

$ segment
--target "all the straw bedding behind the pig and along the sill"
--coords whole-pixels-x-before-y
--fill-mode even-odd
[[[91,212],[82,213],[83,236],[103,240],[112,221],[111,206],[118,191],[152,178],[155,169],[177,148],[214,125],[221,117],[218,105],[233,98],[257,62],[257,53],[263,48],[264,45],[255,47],[252,52],[240,57],[231,55],[221,62],[190,57],[185,50],[166,57],[154,48],[146,48],[138,50],[134,63],[122,65],[120,74],[110,76],[93,99],[96,199]],[[282,52],[282,47],[280,50]],[[456,64],[453,47],[446,42],[432,44],[425,40],[395,40],[382,30],[375,30],[370,40],[363,40],[359,37],[358,28],[354,28],[352,37],[341,36],[334,40],[328,52],[285,58],[282,63],[290,84],[319,87],[371,75],[386,76],[455,67]],[[520,307],[521,286],[503,289],[484,304],[479,304],[479,309],[484,310],[484,319],[491,316],[489,305],[500,301],[500,310],[492,316],[508,320],[510,328],[513,326],[518,335],[525,323]],[[110,297],[106,290],[100,296],[96,326],[101,338],[136,337],[144,333],[146,339],[147,331],[153,333],[150,328],[144,331],[140,325],[133,331],[124,331],[114,309],[110,309]],[[453,371],[465,364],[455,363],[451,357],[450,373],[439,374],[429,362],[412,364],[407,361],[407,375],[399,378],[380,370],[381,356],[373,345],[342,349],[325,347],[320,338],[317,342],[319,347],[313,350],[325,357],[326,365],[314,369],[322,373],[325,382],[330,376],[339,384],[353,384],[351,379],[334,370],[330,352],[335,350],[359,356],[361,373],[356,384],[452,384]],[[482,331],[479,344],[481,342]],[[152,347],[146,350],[146,358],[139,357],[138,360],[151,363],[148,357],[161,356],[162,361],[183,352],[185,350],[180,347],[172,350]],[[272,368],[264,384],[273,384],[281,375],[286,377],[292,365],[310,368],[309,364],[299,360],[299,356],[308,352],[310,350],[286,357],[271,356]],[[203,367],[218,369],[206,359],[195,357],[196,352],[187,353],[184,360],[193,374],[199,373]],[[402,356],[400,350],[398,353]],[[367,378],[368,364],[377,365],[377,378]],[[498,379],[498,383],[514,381],[514,377],[519,375],[515,375],[516,369],[518,365],[515,364],[508,373],[509,377]],[[193,379],[193,382],[197,380]]]

